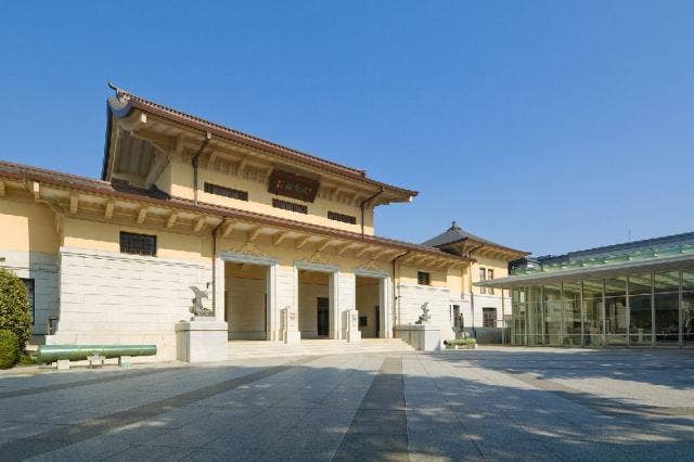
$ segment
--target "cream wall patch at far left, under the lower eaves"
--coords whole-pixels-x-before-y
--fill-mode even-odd
[[[48,205],[15,196],[0,197],[0,248],[57,254],[55,214]]]

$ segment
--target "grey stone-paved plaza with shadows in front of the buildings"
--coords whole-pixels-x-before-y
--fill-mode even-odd
[[[0,374],[2,460],[693,460],[694,350]]]

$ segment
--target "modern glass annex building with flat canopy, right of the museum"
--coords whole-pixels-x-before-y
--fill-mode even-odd
[[[505,344],[694,345],[694,232],[528,258],[477,285],[511,292]]]

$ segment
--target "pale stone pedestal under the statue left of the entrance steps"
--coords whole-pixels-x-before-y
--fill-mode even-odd
[[[176,323],[176,359],[185,362],[227,360],[227,332],[223,321],[195,317]]]

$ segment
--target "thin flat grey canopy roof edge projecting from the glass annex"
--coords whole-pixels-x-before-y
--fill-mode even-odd
[[[474,285],[479,287],[513,288],[526,285],[551,284],[562,281],[571,282],[586,279],[642,274],[644,272],[659,272],[689,268],[694,268],[694,254],[656,257],[647,260],[624,261],[588,268],[567,269],[563,271],[510,275],[507,278],[475,282]]]

